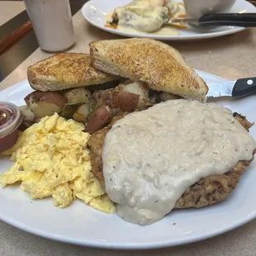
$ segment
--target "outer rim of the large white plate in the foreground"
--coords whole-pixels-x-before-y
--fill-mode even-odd
[[[211,73],[206,73],[203,71],[199,71],[196,70],[197,73],[199,73],[201,76],[204,75],[210,75],[211,78],[215,78],[217,80],[219,80],[220,82],[223,81],[228,81],[225,78],[221,78],[219,76],[216,76],[214,74]],[[210,83],[209,83],[210,84]],[[9,88],[6,88],[4,90],[2,90],[0,92],[0,96],[2,93],[8,93],[11,92],[10,90],[12,90],[13,87],[24,87],[24,86],[28,86],[29,87],[29,83],[27,80],[23,80],[20,83],[16,83],[14,85],[12,85]],[[73,238],[68,238],[66,236],[63,235],[59,235],[59,234],[55,234],[55,233],[50,233],[50,232],[45,232],[45,231],[41,231],[38,228],[35,229],[35,227],[31,227],[29,225],[24,225],[23,223],[21,223],[21,221],[19,220],[15,220],[13,218],[10,218],[8,216],[4,216],[4,214],[2,214],[2,211],[0,211],[0,220],[6,222],[8,225],[12,225],[20,230],[24,230],[28,233],[31,233],[33,235],[38,235],[40,237],[46,238],[46,239],[52,239],[55,241],[59,241],[59,242],[64,242],[64,243],[69,243],[69,244],[78,244],[78,245],[83,245],[83,246],[88,246],[88,247],[92,247],[92,248],[100,248],[100,249],[126,249],[126,250],[134,250],[134,249],[160,249],[160,248],[168,248],[168,247],[172,247],[172,246],[177,246],[177,245],[181,245],[181,244],[190,244],[193,242],[198,242],[204,239],[209,239],[211,237],[214,237],[216,235],[220,235],[223,234],[225,232],[228,232],[230,230],[233,230],[241,225],[244,225],[246,223],[248,223],[251,220],[254,220],[256,217],[256,211],[254,212],[254,215],[244,215],[243,218],[239,218],[239,220],[237,220],[236,222],[230,223],[229,225],[226,225],[225,228],[221,227],[218,230],[214,230],[214,231],[210,231],[208,232],[208,234],[204,234],[204,235],[197,235],[196,237],[188,237],[188,238],[183,238],[183,239],[177,239],[175,241],[164,241],[163,242],[156,242],[155,244],[149,244],[149,243],[141,243],[140,244],[135,244],[135,243],[129,243],[129,244],[116,244],[115,242],[103,242],[103,241],[87,241],[86,239],[81,242],[80,239],[73,239]]]

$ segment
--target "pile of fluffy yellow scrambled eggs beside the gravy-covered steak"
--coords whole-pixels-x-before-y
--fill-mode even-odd
[[[69,206],[75,197],[108,213],[116,211],[104,187],[91,171],[90,135],[84,126],[58,114],[46,116],[19,135],[7,150],[15,164],[0,175],[3,187],[21,182],[32,199],[53,197],[55,206]]]

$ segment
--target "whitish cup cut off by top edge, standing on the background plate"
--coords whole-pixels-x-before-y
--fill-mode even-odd
[[[236,0],[183,0],[187,18],[198,18],[209,13],[229,12]]]

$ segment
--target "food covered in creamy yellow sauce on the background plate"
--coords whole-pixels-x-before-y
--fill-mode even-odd
[[[184,18],[185,8],[182,2],[172,0],[134,0],[123,7],[116,7],[107,16],[107,26],[120,31],[154,33],[157,35],[178,35],[170,25],[185,27],[183,23],[172,23],[172,18]],[[164,26],[164,27],[163,27]]]

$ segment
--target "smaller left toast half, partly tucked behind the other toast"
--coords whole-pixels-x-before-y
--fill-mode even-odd
[[[107,83],[116,77],[92,67],[90,55],[62,53],[43,59],[27,69],[31,88],[41,92]]]

